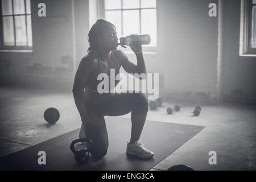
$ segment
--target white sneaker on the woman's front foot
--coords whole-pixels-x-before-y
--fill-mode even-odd
[[[144,147],[144,144],[146,144],[146,142],[142,143],[141,140],[137,140],[134,143],[127,142],[126,154],[137,155],[143,159],[151,158],[154,153]]]

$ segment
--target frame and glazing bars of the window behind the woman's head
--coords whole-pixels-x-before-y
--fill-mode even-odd
[[[146,8],[142,8],[141,7],[141,0],[139,0],[139,3],[140,3],[140,7],[139,8],[131,8],[131,9],[123,9],[122,8],[122,0],[121,1],[121,9],[111,9],[111,10],[108,10],[108,9],[105,9],[105,0],[100,0],[100,7],[101,7],[101,10],[102,10],[102,19],[105,19],[105,11],[121,11],[121,26],[122,26],[122,34],[123,34],[123,18],[122,18],[122,11],[125,11],[125,10],[139,10],[139,31],[141,32],[141,10],[148,10],[148,9],[155,9],[156,10],[156,16],[157,16],[157,3],[156,3],[156,7],[146,7]],[[156,20],[157,20],[157,17],[156,17]],[[122,36],[122,35],[121,35]],[[156,21],[156,46],[143,46],[142,45],[142,48],[143,48],[143,51],[145,52],[156,52],[156,47],[158,45],[158,41],[157,41],[157,21]],[[123,51],[129,51],[125,48],[121,48],[123,49]]]

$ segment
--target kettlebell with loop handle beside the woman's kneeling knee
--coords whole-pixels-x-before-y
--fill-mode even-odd
[[[77,150],[75,148],[75,144],[79,143],[79,142],[86,142],[87,145],[87,149],[80,149]],[[88,162],[89,160],[89,151],[90,151],[90,147],[92,147],[92,140],[90,139],[86,139],[86,138],[80,138],[80,139],[76,139],[73,140],[73,142],[70,145],[70,150],[75,154],[75,160],[77,163],[79,164],[84,164],[86,162]]]

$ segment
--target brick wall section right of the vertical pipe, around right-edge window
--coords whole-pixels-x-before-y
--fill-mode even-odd
[[[256,102],[256,57],[239,56],[240,1],[224,1],[224,62],[222,95],[225,101]]]

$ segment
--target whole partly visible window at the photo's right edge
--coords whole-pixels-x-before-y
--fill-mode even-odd
[[[256,56],[256,0],[241,1],[240,56]]]

